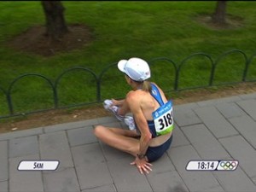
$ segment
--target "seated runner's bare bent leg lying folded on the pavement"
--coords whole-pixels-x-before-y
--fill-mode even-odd
[[[102,142],[113,148],[117,148],[134,156],[136,156],[139,151],[139,140],[135,138],[139,137],[139,135],[134,131],[98,125],[94,129],[94,133]]]

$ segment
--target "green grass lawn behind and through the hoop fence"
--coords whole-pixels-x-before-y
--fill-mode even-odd
[[[242,26],[212,29],[196,21],[198,15],[212,14],[216,2],[62,2],[68,24],[81,23],[93,29],[94,41],[84,49],[49,58],[9,49],[6,42],[32,26],[44,25],[40,2],[0,3],[0,116],[8,114],[8,103],[1,91],[24,73],[39,73],[55,82],[71,67],[90,68],[96,75],[104,67],[133,56],[151,61],[167,57],[180,64],[186,57],[204,52],[216,61],[230,49],[241,49],[248,57],[256,51],[255,2],[228,2],[230,15],[240,17]],[[248,79],[256,78],[256,61],[249,67]],[[230,54],[216,67],[214,83],[240,81],[241,55]],[[195,56],[181,68],[178,88],[207,85],[211,63]],[[85,74],[85,75],[84,75]],[[168,61],[152,64],[152,80],[164,90],[172,90],[174,69]],[[102,99],[123,97],[129,86],[116,68],[102,79]],[[44,79],[26,77],[12,90],[15,113],[53,107],[53,93]],[[59,105],[96,101],[96,82],[81,71],[67,73],[58,85]]]

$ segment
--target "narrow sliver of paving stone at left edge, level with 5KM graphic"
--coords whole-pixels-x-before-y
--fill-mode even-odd
[[[0,182],[8,180],[8,143],[0,142]],[[1,188],[0,188],[1,191]]]

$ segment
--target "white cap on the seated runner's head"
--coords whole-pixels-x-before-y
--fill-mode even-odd
[[[132,80],[142,82],[150,78],[148,63],[140,58],[133,57],[121,60],[118,63],[119,70],[128,75]]]

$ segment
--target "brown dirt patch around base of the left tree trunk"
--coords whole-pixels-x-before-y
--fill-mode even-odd
[[[52,41],[45,35],[45,26],[32,26],[8,42],[8,46],[30,54],[52,56],[80,49],[93,40],[92,30],[88,26],[73,24],[60,40]]]

